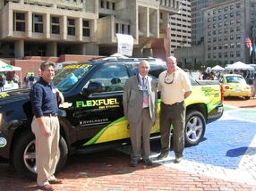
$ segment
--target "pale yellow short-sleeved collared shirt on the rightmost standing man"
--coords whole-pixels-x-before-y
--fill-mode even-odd
[[[175,104],[184,100],[184,92],[192,91],[191,81],[188,75],[180,68],[177,68],[171,75],[173,83],[166,84],[167,71],[160,73],[158,77],[158,91],[161,92],[161,100],[164,104]]]

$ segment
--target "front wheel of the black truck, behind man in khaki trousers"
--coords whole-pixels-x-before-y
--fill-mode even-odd
[[[28,130],[22,133],[13,147],[13,164],[15,169],[28,179],[37,179],[35,136]],[[60,160],[56,172],[64,168],[67,161],[68,147],[64,137],[60,137]]]

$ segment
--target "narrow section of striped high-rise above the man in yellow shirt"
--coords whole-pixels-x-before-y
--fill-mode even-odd
[[[170,16],[171,55],[174,55],[175,48],[191,46],[191,18],[191,0],[183,0],[178,14]]]

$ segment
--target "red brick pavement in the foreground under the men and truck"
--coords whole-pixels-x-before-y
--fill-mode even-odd
[[[253,108],[256,100],[226,100],[225,104]],[[237,103],[239,102],[239,103]],[[252,152],[252,155],[255,152]],[[57,174],[64,184],[55,185],[57,191],[143,191],[143,190],[175,190],[175,191],[256,191],[256,186],[238,183],[238,181],[212,178],[185,170],[185,162],[169,165],[154,162],[152,167],[140,163],[136,168],[128,166],[128,154],[117,150],[107,150],[97,154],[73,155],[64,170]],[[197,169],[196,164],[191,165]],[[183,168],[182,168],[183,167]],[[198,167],[200,168],[200,167]],[[214,173],[212,172],[212,175]],[[226,177],[232,174],[226,174]],[[0,164],[0,191],[38,190],[36,182],[22,178],[7,164]],[[215,176],[216,177],[216,176]],[[241,174],[241,179],[246,179]]]

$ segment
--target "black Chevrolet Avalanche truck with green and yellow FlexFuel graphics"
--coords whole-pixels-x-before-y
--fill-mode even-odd
[[[65,99],[58,112],[61,157],[57,170],[64,167],[69,154],[88,153],[130,141],[122,104],[124,83],[129,77],[138,75],[141,60],[110,58],[80,62],[67,65],[56,73],[55,86],[63,92]],[[149,75],[157,80],[159,73],[166,71],[166,63],[147,60]],[[192,95],[185,100],[184,137],[187,146],[199,144],[206,123],[218,120],[223,113],[218,81],[203,86],[192,78],[191,82]],[[28,93],[28,89],[23,89],[0,94],[0,159],[8,160],[22,175],[35,179],[35,137],[30,126],[33,115]],[[160,107],[158,113],[159,110]],[[159,137],[158,121],[151,129],[151,137]]]

